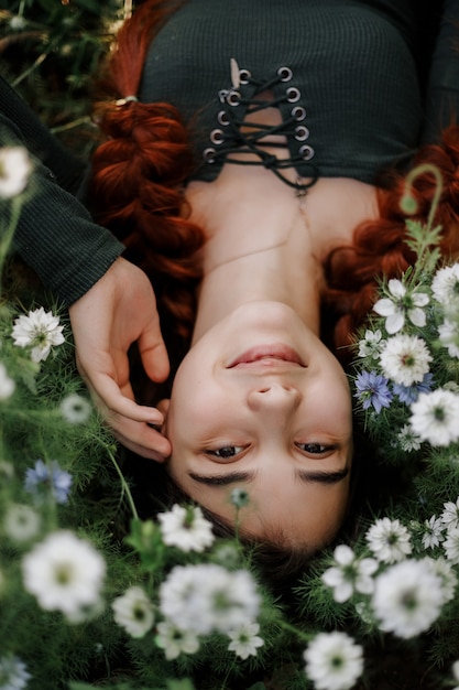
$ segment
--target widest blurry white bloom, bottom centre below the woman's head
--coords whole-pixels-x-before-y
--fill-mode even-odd
[[[176,565],[160,586],[160,608],[182,630],[227,633],[259,613],[260,595],[245,570],[214,563]]]

